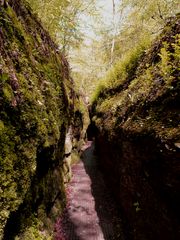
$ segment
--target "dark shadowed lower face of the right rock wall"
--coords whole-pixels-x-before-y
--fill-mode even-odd
[[[148,136],[114,141],[99,135],[97,150],[132,239],[179,239],[179,154],[162,156]]]

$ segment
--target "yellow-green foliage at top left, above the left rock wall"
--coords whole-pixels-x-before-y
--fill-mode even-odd
[[[64,52],[79,46],[83,38],[80,14],[86,12],[91,15],[95,10],[95,0],[27,1]]]

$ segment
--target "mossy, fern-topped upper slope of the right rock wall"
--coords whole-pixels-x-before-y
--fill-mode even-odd
[[[132,49],[98,89],[93,109],[96,125],[116,133],[151,134],[165,142],[180,141],[180,16],[169,20],[149,50]],[[113,129],[113,131],[111,131]]]

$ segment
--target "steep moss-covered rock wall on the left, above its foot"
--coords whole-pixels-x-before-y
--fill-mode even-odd
[[[41,215],[63,206],[65,79],[67,62],[28,5],[0,1],[0,239],[20,205]]]

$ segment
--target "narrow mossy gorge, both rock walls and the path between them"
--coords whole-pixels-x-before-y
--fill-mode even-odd
[[[0,0],[0,239],[180,239],[179,34],[177,14],[89,103],[30,5]]]

